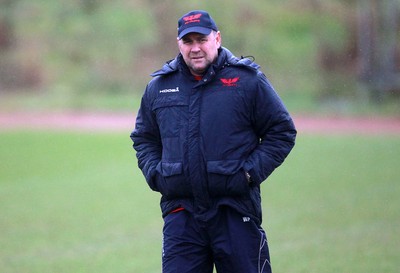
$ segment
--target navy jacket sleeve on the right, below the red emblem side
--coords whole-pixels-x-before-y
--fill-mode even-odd
[[[260,184],[283,163],[297,134],[286,107],[261,72],[253,101],[252,124],[260,141],[247,158],[244,169],[254,183]]]

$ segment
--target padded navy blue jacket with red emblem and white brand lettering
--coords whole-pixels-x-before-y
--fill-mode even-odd
[[[131,139],[163,215],[227,205],[261,223],[260,184],[289,154],[296,130],[259,66],[221,48],[200,81],[181,55],[152,76]]]

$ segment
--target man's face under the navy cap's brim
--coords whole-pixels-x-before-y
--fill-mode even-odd
[[[218,56],[221,34],[219,31],[209,35],[189,33],[178,40],[178,46],[190,72],[202,76]]]

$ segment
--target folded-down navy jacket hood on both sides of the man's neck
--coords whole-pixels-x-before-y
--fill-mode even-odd
[[[225,67],[225,66],[244,66],[248,67],[250,69],[258,70],[260,66],[256,64],[254,61],[250,60],[249,58],[246,57],[241,57],[238,58],[232,54],[232,52],[225,48],[221,47],[219,49],[218,53],[218,59],[217,61],[213,64],[214,67]],[[152,74],[150,76],[156,77],[156,76],[161,76],[161,75],[167,75],[170,73],[174,73],[183,66],[183,57],[179,53],[178,56],[175,57],[175,59],[172,59],[170,61],[167,61],[163,67]]]

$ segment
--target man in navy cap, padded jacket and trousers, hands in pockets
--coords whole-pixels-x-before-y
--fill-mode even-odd
[[[164,273],[271,272],[260,184],[294,146],[286,108],[205,11],[178,21],[180,54],[146,87],[131,134],[160,192]]]

